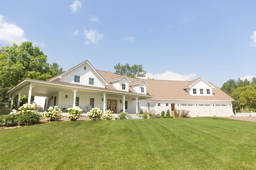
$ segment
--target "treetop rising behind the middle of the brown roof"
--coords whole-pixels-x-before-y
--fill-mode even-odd
[[[114,69],[116,69],[116,74],[119,75],[126,75],[128,77],[134,77],[134,78],[143,78],[146,76],[146,71],[143,70],[142,65],[132,65],[130,66],[128,63],[125,65],[120,65],[118,63],[114,66]]]

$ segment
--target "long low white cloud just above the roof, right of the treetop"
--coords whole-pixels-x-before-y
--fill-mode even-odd
[[[151,73],[146,73],[146,76],[144,79],[147,78],[154,78],[156,80],[176,80],[176,81],[191,81],[194,77],[196,77],[195,73],[191,74],[179,74],[179,73],[174,73],[171,71],[166,71],[165,73],[158,73],[158,74],[151,74]]]

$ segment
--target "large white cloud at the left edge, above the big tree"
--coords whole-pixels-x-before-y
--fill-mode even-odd
[[[28,41],[24,30],[17,26],[15,23],[7,22],[3,15],[0,14],[0,40],[9,43],[21,44],[22,42]]]

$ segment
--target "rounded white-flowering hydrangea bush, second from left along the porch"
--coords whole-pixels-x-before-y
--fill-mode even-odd
[[[42,114],[42,119],[45,121],[60,121],[62,118],[62,111],[58,106],[49,107],[48,112]]]

